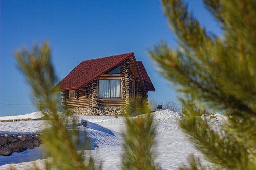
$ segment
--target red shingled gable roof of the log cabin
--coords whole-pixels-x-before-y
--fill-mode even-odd
[[[65,90],[72,90],[72,89],[80,88],[83,85],[86,85],[89,82],[91,82],[92,80],[96,79],[100,75],[104,74],[105,72],[111,70],[112,68],[117,66],[119,63],[121,63],[123,60],[125,60],[129,57],[133,57],[133,59],[136,63],[136,67],[138,68],[139,75],[140,75],[141,79],[143,80],[143,77],[141,75],[140,68],[135,59],[134,53],[131,52],[131,53],[125,53],[125,54],[119,54],[119,55],[114,55],[114,56],[108,56],[108,57],[103,57],[103,58],[82,61],[64,79],[62,79],[59,82],[59,84],[61,85],[60,90],[65,91]],[[143,64],[142,64],[142,66],[143,66]],[[143,68],[144,68],[144,66],[143,66]],[[146,73],[146,75],[147,75],[147,73]],[[147,75],[147,77],[148,77],[148,75]],[[148,79],[149,79],[149,77],[148,77]],[[143,85],[145,85],[144,82],[143,82]],[[146,89],[144,89],[144,90],[146,90]],[[151,91],[151,90],[148,90],[148,91]],[[154,91],[155,91],[155,89],[154,89]]]

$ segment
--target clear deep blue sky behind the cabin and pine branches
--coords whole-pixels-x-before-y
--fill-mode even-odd
[[[160,1],[0,1],[0,116],[37,111],[17,70],[13,53],[34,42],[49,41],[59,79],[81,61],[134,52],[143,61],[160,102],[178,95],[156,71],[147,49],[159,40],[176,46]],[[189,1],[195,17],[209,31],[217,24],[201,1]]]

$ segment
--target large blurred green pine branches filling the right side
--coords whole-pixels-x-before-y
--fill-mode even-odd
[[[223,31],[220,36],[206,31],[182,0],[162,3],[179,46],[161,42],[150,56],[181,94],[181,128],[211,168],[256,169],[255,1],[205,0]],[[215,130],[201,118],[204,109],[215,109],[228,123]],[[205,168],[200,159],[189,160],[181,169]]]

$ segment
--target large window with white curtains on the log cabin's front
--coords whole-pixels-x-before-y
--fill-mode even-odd
[[[121,98],[121,80],[99,80],[99,98]]]

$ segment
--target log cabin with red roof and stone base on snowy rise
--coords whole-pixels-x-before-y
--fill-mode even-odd
[[[84,115],[143,111],[148,91],[155,91],[143,63],[136,61],[133,52],[82,61],[59,85],[63,107]]]

